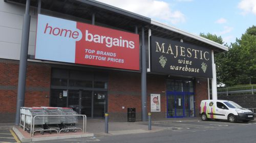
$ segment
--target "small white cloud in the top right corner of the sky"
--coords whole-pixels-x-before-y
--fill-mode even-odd
[[[243,12],[242,14],[252,13],[256,15],[256,1],[255,0],[242,0],[238,4],[238,8],[240,8]]]

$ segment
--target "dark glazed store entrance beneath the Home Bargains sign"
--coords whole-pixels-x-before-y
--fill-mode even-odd
[[[50,106],[71,107],[88,118],[108,112],[108,73],[52,69]]]

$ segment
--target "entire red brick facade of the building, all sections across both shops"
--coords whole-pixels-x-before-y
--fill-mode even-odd
[[[110,119],[127,119],[127,108],[136,108],[136,120],[141,119],[141,73],[109,72],[108,112]],[[166,76],[147,75],[147,111],[150,112],[150,94],[161,95],[161,112],[154,118],[166,118]],[[207,99],[207,79],[196,78],[195,109],[198,116],[200,102]],[[49,106],[51,65],[28,62],[25,106]],[[18,61],[0,60],[0,122],[14,121],[18,82]],[[124,109],[122,108],[124,107]]]

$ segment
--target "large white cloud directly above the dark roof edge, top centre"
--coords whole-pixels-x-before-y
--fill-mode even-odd
[[[99,2],[112,5],[127,11],[131,11],[153,20],[162,21],[164,23],[178,24],[185,22],[185,16],[180,11],[173,11],[169,4],[157,0],[98,0]]]

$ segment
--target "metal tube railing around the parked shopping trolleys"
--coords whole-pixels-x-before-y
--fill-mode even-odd
[[[24,123],[22,125],[22,115],[24,115]],[[63,130],[72,130],[72,129],[79,129],[81,130],[83,133],[86,132],[86,122],[87,122],[87,117],[86,115],[36,115],[36,116],[32,116],[32,115],[27,115],[25,113],[20,113],[20,118],[19,118],[19,127],[23,127],[23,130],[25,131],[25,127],[26,127],[26,118],[27,116],[31,117],[31,123],[30,123],[30,136],[34,136],[34,133],[37,131],[56,131],[57,134],[59,134],[61,131]],[[65,128],[65,129],[61,129],[61,130],[56,130],[56,129],[41,129],[41,130],[35,130],[35,118],[36,117],[70,117],[70,116],[80,116],[83,117],[83,126],[82,129],[81,128]]]

